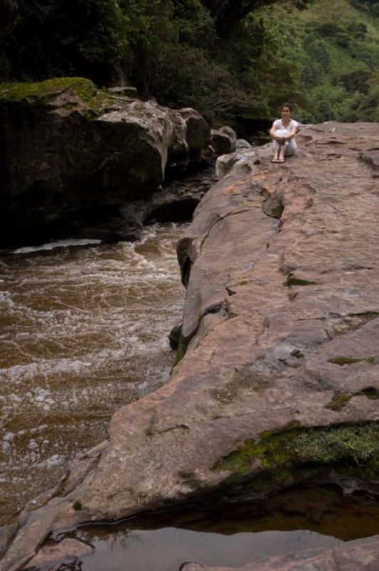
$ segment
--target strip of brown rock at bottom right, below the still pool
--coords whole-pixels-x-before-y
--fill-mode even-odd
[[[374,571],[379,566],[379,537],[347,542],[333,549],[306,550],[257,559],[244,567],[207,567],[189,562],[180,571]]]

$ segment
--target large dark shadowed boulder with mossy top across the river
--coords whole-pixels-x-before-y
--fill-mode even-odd
[[[1,84],[0,121],[0,246],[137,238],[150,202],[162,203],[165,169],[201,161],[210,141],[193,109],[81,78]]]

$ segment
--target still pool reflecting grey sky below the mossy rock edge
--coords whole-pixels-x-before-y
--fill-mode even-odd
[[[237,567],[378,533],[378,501],[333,487],[288,490],[261,503],[83,527],[72,536],[93,553],[41,571],[178,571],[185,561]]]

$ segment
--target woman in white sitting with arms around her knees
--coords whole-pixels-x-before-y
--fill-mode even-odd
[[[284,163],[285,156],[296,153],[294,136],[297,133],[298,122],[292,118],[292,107],[289,103],[281,106],[281,119],[276,119],[270,129],[273,139],[274,158],[271,163]]]

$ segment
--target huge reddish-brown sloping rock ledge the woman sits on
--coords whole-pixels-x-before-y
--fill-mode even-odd
[[[325,482],[378,494],[378,137],[325,123],[284,166],[269,148],[230,161],[178,246],[184,358],[3,528],[2,571],[41,565],[51,532],[205,495]]]

